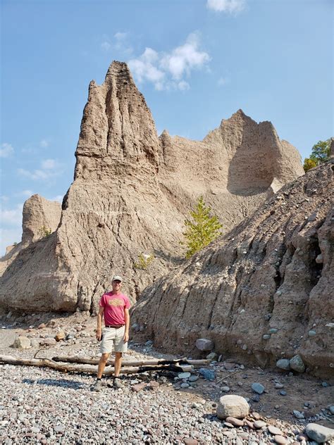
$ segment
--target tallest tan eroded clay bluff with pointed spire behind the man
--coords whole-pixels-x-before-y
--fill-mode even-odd
[[[75,177],[61,223],[30,244],[4,272],[0,304],[24,311],[94,313],[111,277],[125,277],[132,301],[180,263],[190,208],[203,195],[230,230],[273,190],[302,175],[297,149],[269,122],[241,110],[202,142],[158,138],[151,112],[125,63],[89,84]],[[154,253],[147,270],[138,255]]]

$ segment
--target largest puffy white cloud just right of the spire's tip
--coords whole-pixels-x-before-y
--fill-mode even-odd
[[[193,32],[183,45],[170,52],[159,53],[146,48],[141,56],[131,59],[128,65],[138,82],[151,82],[159,91],[184,91],[190,88],[184,77],[189,78],[194,69],[206,67],[210,60],[209,54],[199,51],[199,35]]]

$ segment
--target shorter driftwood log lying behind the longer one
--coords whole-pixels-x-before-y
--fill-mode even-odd
[[[53,361],[56,362],[66,362],[66,363],[82,363],[85,365],[97,365],[99,360],[96,358],[88,357],[70,357],[70,356],[56,356],[52,357]],[[188,360],[187,358],[176,358],[175,360],[123,360],[122,366],[153,366],[153,365],[173,365],[174,363],[180,363],[180,365],[192,365],[192,366],[203,366],[210,363],[209,360]],[[113,366],[114,361],[110,360],[106,363],[107,366]]]

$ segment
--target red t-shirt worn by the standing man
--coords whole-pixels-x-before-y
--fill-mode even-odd
[[[104,308],[105,325],[125,325],[124,311],[131,306],[128,296],[106,292],[101,296],[99,306]]]

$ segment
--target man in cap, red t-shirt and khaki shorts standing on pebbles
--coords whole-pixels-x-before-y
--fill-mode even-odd
[[[118,275],[113,277],[113,290],[103,294],[99,302],[99,314],[97,315],[97,340],[101,341],[101,358],[97,368],[97,381],[92,391],[101,391],[101,377],[108,361],[109,354],[114,347],[115,350],[115,373],[113,387],[122,388],[123,383],[118,378],[120,365],[122,364],[122,353],[128,349],[129,325],[130,325],[130,300],[128,296],[120,292],[122,278]],[[104,330],[101,323],[104,318]]]

